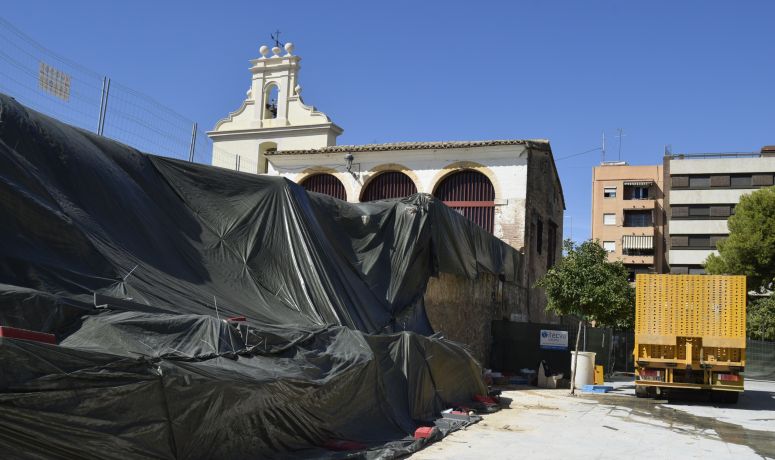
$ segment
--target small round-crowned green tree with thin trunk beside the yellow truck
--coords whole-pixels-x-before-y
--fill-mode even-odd
[[[611,327],[629,327],[635,317],[635,291],[627,281],[621,262],[608,262],[598,241],[576,245],[563,243],[562,260],[536,282],[546,292],[546,309],[558,315],[579,318],[576,357],[571,371],[571,394],[575,393],[579,337],[585,322]]]

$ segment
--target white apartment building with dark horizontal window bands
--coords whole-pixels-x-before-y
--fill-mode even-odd
[[[775,146],[760,153],[668,155],[663,165],[670,273],[705,273],[705,259],[729,234],[727,220],[740,197],[773,185]]]

